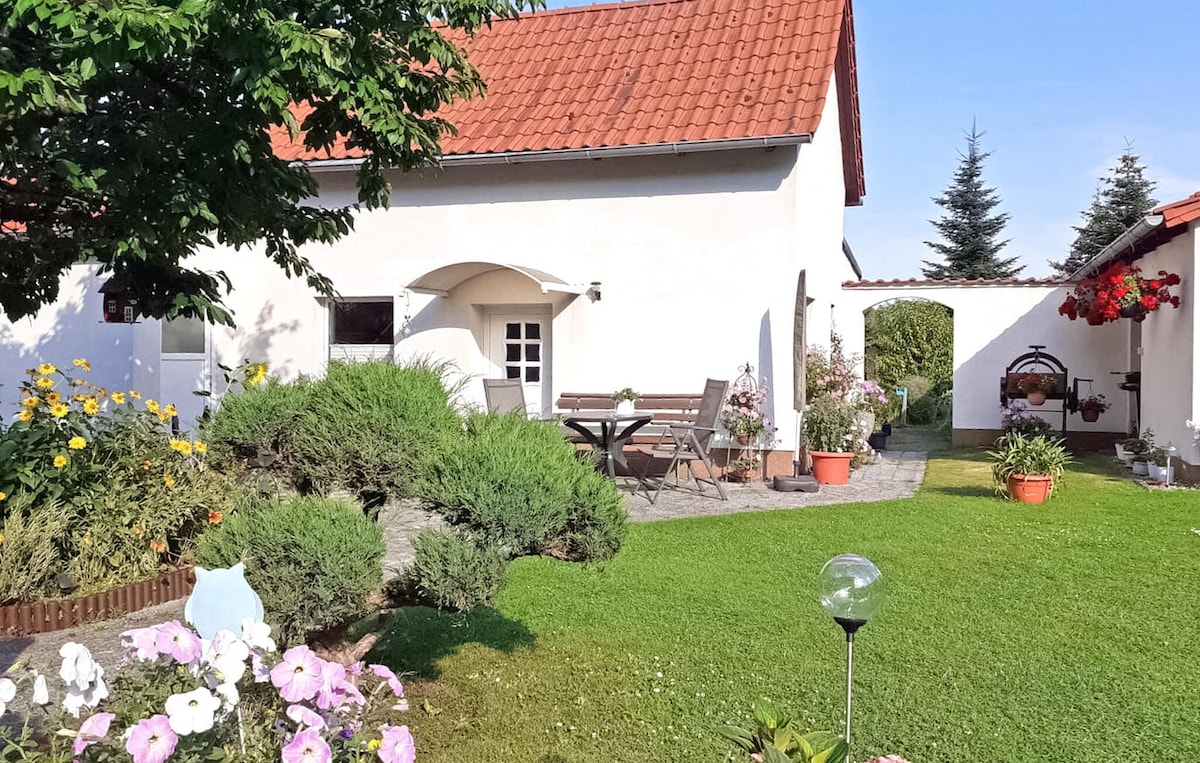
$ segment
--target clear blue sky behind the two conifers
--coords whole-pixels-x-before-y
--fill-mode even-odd
[[[1200,191],[1200,2],[856,0],[854,28],[866,198],[846,238],[868,278],[920,277],[972,120],[1022,276],[1050,275],[1127,139],[1159,202]]]

